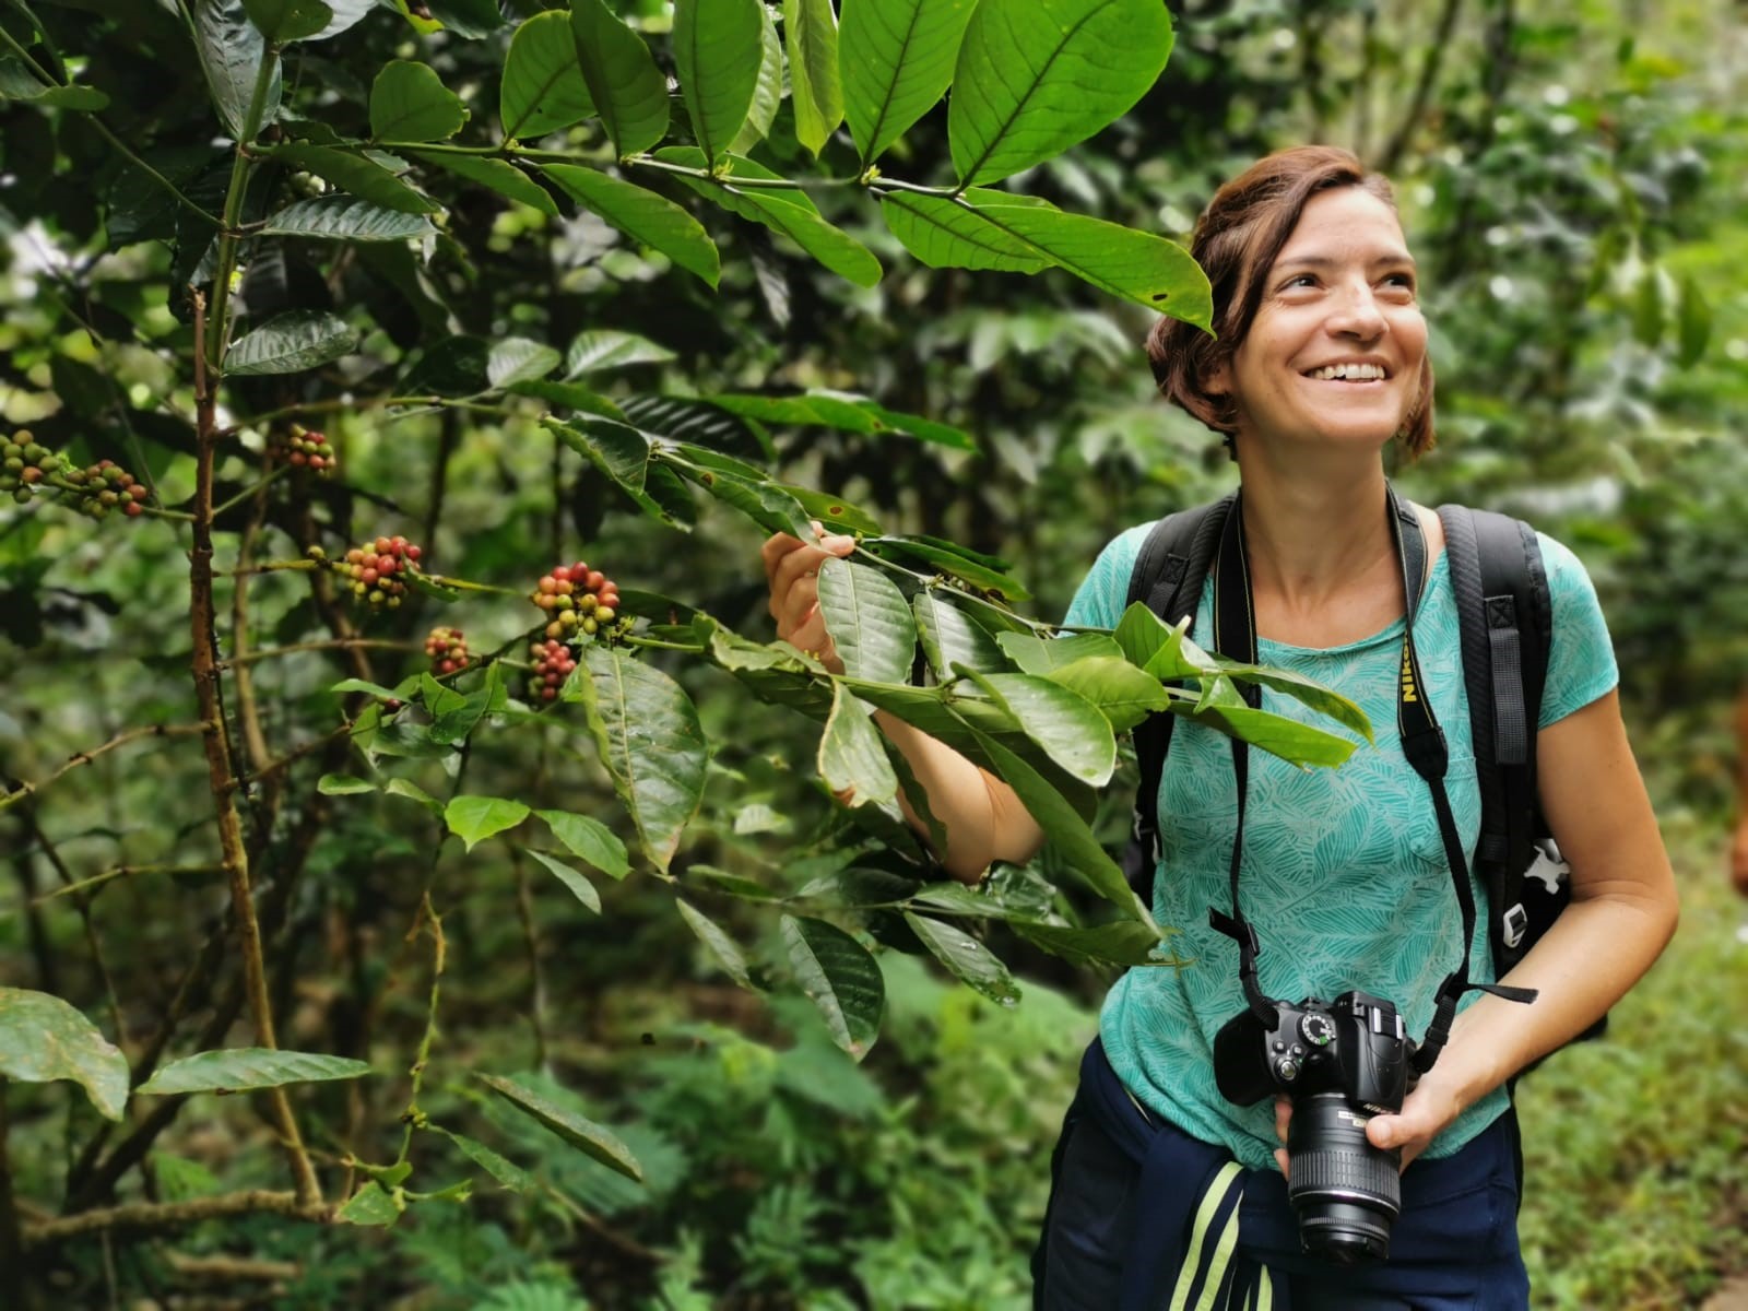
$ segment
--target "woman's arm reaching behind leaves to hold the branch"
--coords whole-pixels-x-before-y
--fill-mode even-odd
[[[813,654],[834,673],[843,673],[844,664],[820,614],[818,573],[822,563],[848,556],[853,547],[853,537],[822,533],[816,544],[808,544],[776,533],[760,551],[778,636]],[[946,850],[935,851],[935,857],[953,877],[975,883],[993,862],[1024,864],[1044,846],[1038,822],[1000,778],[886,711],[876,711],[874,724],[911,766],[928,797],[928,809],[946,834]],[[911,827],[928,841],[926,825],[911,811],[902,792],[898,804]]]

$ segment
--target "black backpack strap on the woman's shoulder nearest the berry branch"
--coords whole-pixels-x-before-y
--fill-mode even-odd
[[[1194,626],[1208,565],[1236,496],[1227,493],[1211,505],[1178,510],[1154,524],[1129,573],[1126,610],[1143,601],[1168,624],[1176,626],[1189,617]],[[1129,886],[1143,900],[1150,900],[1159,862],[1159,780],[1171,750],[1173,724],[1173,715],[1155,711],[1134,725],[1134,759],[1141,776],[1134,794],[1134,836],[1122,864]]]

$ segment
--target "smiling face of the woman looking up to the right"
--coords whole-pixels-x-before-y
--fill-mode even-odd
[[[1412,413],[1425,357],[1402,224],[1376,196],[1341,187],[1306,203],[1250,332],[1208,390],[1236,404],[1239,451],[1246,439],[1376,451]]]

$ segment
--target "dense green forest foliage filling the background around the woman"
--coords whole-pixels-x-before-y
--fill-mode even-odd
[[[586,79],[549,40],[563,30],[570,49],[572,19],[544,9],[0,0],[3,430],[58,453],[63,477],[112,460],[149,491],[133,516],[117,484],[100,519],[79,514],[84,491],[0,502],[7,1306],[1026,1304],[1047,1150],[1113,968],[1087,956],[1133,939],[1059,851],[975,904],[918,900],[902,839],[834,801],[872,766],[820,750],[830,697],[797,690],[813,680],[794,664],[748,682],[771,636],[759,521],[792,514],[783,484],[912,552],[926,537],[935,556],[897,563],[956,570],[954,601],[1002,628],[979,598],[1051,621],[1113,531],[1208,498],[1231,467],[1154,395],[1154,313],[1122,278],[1012,250],[974,269],[911,253],[916,234],[867,194],[865,119],[830,133],[827,80],[806,59],[797,73],[818,47],[790,47],[787,68],[759,54],[822,40],[825,0],[750,28],[767,128],[731,145],[813,180],[816,224],[773,227],[790,203],[776,189],[724,205],[697,154],[669,156],[666,178],[617,170],[690,213],[715,266],[666,210],[650,239],[614,210],[622,194],[603,199],[615,157],[662,136],[629,149],[636,122],[587,115],[593,84],[575,112]],[[844,49],[872,49],[841,9]],[[923,9],[963,10],[940,19],[951,49],[972,7]],[[575,10],[645,42],[669,145],[720,154],[703,124],[725,112],[696,103],[715,66],[673,5]],[[864,0],[864,19],[890,12]],[[1397,180],[1440,435],[1400,481],[1428,503],[1528,514],[1580,551],[1687,905],[1612,1037],[1521,1087],[1538,1306],[1701,1306],[1748,1271],[1748,949],[1720,855],[1724,706],[1748,676],[1748,37],[1727,0],[1169,12],[1162,77],[1126,73],[1133,108],[989,185],[1182,241],[1213,185],[1276,145],[1346,143]],[[278,121],[257,136],[262,26],[313,38],[285,47]],[[635,63],[615,51],[603,66]],[[400,70],[388,91],[385,66]],[[850,73],[843,89],[855,98]],[[930,103],[884,180],[965,178],[953,115],[968,110]],[[528,124],[519,180],[491,168],[510,168],[491,154],[507,119]],[[330,192],[374,208],[337,232]],[[327,206],[316,238],[283,217],[302,201]],[[407,234],[341,239],[371,222]],[[213,395],[196,360],[232,337]],[[694,502],[678,465],[615,463],[596,423],[614,416],[696,442],[694,461],[745,463],[699,465],[717,477],[692,481]],[[287,463],[316,449],[308,430],[332,470]],[[753,491],[724,493],[734,479]],[[306,558],[379,535],[421,544],[449,584],[372,608]],[[526,596],[579,558],[640,621],[617,662],[582,657],[591,687],[656,669],[640,696],[659,715],[615,720],[572,682],[582,703],[547,706],[530,687],[528,636],[551,614]],[[191,640],[203,596],[217,645]],[[708,647],[694,612],[743,638]],[[434,626],[465,633],[463,678],[427,656]],[[799,706],[750,696],[773,689]],[[675,692],[710,743],[696,815],[628,778],[671,745],[657,729]],[[222,767],[203,752],[210,706]],[[598,750],[640,729],[656,736]],[[1112,846],[1124,808],[1113,788],[1091,820]],[[1117,937],[1065,937],[1082,932]],[[26,993],[86,1019],[17,1010]],[[178,1065],[269,1045],[329,1065]],[[180,1087],[276,1091],[145,1091],[178,1068]],[[47,1082],[68,1072],[89,1096]],[[339,1204],[348,1224],[329,1224]]]

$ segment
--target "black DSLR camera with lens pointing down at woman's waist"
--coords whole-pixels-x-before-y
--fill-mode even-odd
[[[1402,1108],[1416,1080],[1414,1040],[1397,1009],[1369,993],[1271,1005],[1273,1028],[1241,1010],[1215,1037],[1220,1096],[1239,1106],[1292,1098],[1287,1196],[1299,1241],[1337,1266],[1384,1260],[1402,1213],[1402,1154],[1372,1147],[1365,1122]]]

